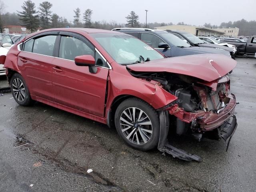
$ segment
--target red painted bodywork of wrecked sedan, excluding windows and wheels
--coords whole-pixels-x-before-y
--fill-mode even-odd
[[[76,66],[74,61],[50,56],[19,51],[17,46],[30,37],[48,31],[68,31],[81,34],[87,38],[112,66],[111,69],[98,68],[96,74],[89,72],[88,67]],[[90,33],[118,33],[115,31],[78,28],[57,28],[43,30],[26,36],[14,45],[6,56],[4,67],[20,73],[27,85],[33,100],[49,104],[74,114],[107,123],[107,114],[113,102],[122,96],[135,96],[150,104],[153,108],[162,108],[176,96],[159,86],[158,82],[148,82],[132,76],[126,66],[116,63],[109,54],[90,36]],[[207,54],[154,60],[144,64],[129,65],[133,71],[171,72],[185,74],[203,80],[202,83],[214,87],[214,83],[236,66],[228,57]],[[212,85],[213,84],[213,85]],[[211,86],[212,85],[212,86]],[[107,94],[106,94],[107,90]],[[169,109],[185,122],[191,122],[196,115],[178,108],[176,112]],[[177,111],[178,110],[178,111]],[[230,109],[232,111],[232,109]],[[210,115],[204,112],[199,116]],[[192,118],[187,118],[192,116]],[[218,120],[220,114],[211,116],[211,122]],[[222,117],[226,119],[226,116]],[[208,123],[208,122],[203,122]],[[202,124],[203,124],[202,123]]]

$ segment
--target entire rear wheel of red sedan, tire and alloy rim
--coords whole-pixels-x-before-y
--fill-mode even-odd
[[[22,106],[29,106],[32,104],[33,101],[30,97],[30,93],[24,79],[20,74],[15,73],[11,78],[10,84],[12,96],[18,104]]]

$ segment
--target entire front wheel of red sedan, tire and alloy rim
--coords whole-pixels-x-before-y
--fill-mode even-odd
[[[158,144],[158,113],[140,99],[122,102],[116,110],[115,124],[126,144],[136,149],[150,150]]]

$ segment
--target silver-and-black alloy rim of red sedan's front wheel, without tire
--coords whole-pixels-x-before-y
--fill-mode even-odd
[[[148,115],[136,107],[126,108],[120,116],[122,133],[134,144],[146,144],[152,137],[152,122]]]

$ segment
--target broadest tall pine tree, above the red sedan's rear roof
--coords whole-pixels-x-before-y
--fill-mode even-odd
[[[20,20],[24,23],[26,28],[28,28],[31,32],[34,32],[39,25],[39,16],[36,14],[36,6],[31,0],[27,0],[23,2],[21,6],[23,11],[18,11],[18,16],[20,16]]]

